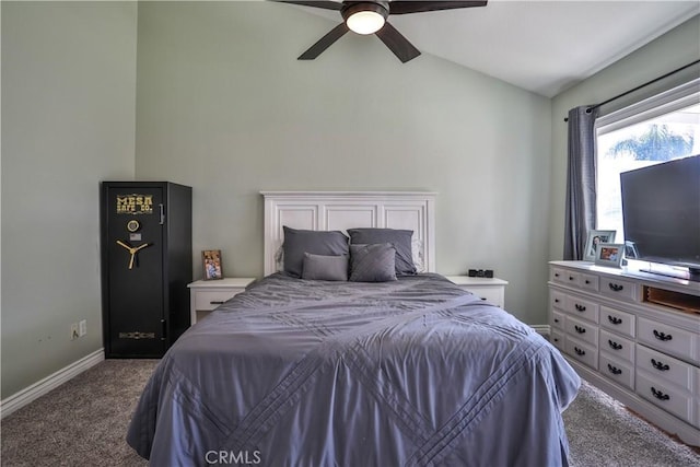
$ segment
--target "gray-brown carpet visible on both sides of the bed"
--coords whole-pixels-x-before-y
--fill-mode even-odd
[[[155,364],[104,361],[12,413],[0,427],[2,466],[145,466],[124,437]],[[700,466],[700,455],[587,384],[564,422],[574,467]]]

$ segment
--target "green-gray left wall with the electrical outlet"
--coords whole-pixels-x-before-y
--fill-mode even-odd
[[[133,177],[137,7],[1,8],[5,398],[102,348],[98,182]]]

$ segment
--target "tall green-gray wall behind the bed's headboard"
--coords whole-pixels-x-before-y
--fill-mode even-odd
[[[423,55],[401,65],[271,2],[141,3],[137,175],[194,187],[198,254],[262,273],[261,189],[434,190],[438,269],[494,268],[546,323],[550,101]],[[292,25],[292,26],[290,26]]]

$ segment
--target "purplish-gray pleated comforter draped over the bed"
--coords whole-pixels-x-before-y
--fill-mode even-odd
[[[153,466],[560,466],[579,376],[438,275],[270,276],[185,332],[127,441]]]

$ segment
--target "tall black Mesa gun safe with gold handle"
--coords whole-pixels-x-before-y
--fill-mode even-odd
[[[189,327],[191,188],[170,182],[101,186],[105,358],[160,358]]]

